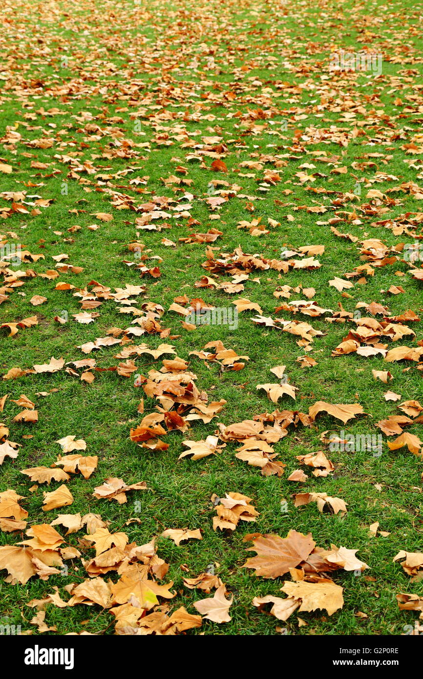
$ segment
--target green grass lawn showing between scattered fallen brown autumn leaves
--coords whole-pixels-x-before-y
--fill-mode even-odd
[[[129,327],[132,316],[117,312],[119,305],[109,300],[93,310],[100,314],[94,323],[81,325],[72,316],[81,310],[79,298],[55,287],[65,281],[83,289],[92,280],[113,291],[126,284],[145,285],[145,293],[135,298],[137,306],[141,308],[147,300],[161,304],[166,310],[162,327],[170,327],[170,335],[177,337],[161,339],[159,335],[145,334],[135,337],[134,344],[146,342],[151,348],[162,342],[172,344],[177,356],[189,360],[189,369],[197,375],[196,384],[207,392],[209,400],[227,401],[217,419],[209,424],[195,422],[187,434],[171,432],[165,437],[170,444],[166,452],[150,452],[132,443],[129,433],[141,420],[136,411],[141,397],[145,414],[153,412],[156,403],[145,397],[142,387],[134,387],[132,378],[110,371],[96,372],[94,383],[86,384],[61,370],[4,381],[0,397],[7,393],[9,398],[2,422],[10,428],[10,439],[21,443],[22,448],[18,458],[3,462],[1,490],[13,488],[25,496],[22,504],[29,511],[29,525],[50,522],[60,513],[92,512],[110,522],[111,532],[124,530],[130,542],[138,545],[149,542],[165,528],[201,528],[202,540],[189,540],[179,547],[165,538],[158,540],[158,554],[170,564],[166,582],[173,580],[177,591],[170,608],[183,605],[196,613],[192,603],[204,597],[201,591],[183,587],[186,571],[181,569],[182,564],[191,577],[204,572],[208,564],[218,564],[217,574],[234,593],[232,621],[225,625],[204,621],[202,628],[187,634],[277,634],[275,628],[281,625],[287,627],[289,634],[402,634],[404,625],[413,624],[418,614],[399,610],[395,595],[423,595],[423,585],[410,583],[409,576],[399,564],[392,563],[392,558],[401,549],[422,551],[422,462],[406,448],[391,452],[384,437],[380,458],[369,452],[327,452],[335,465],[333,475],[310,475],[304,484],[290,483],[287,477],[298,468],[295,456],[322,448],[320,435],[324,430],[339,432],[344,428],[353,434],[379,434],[375,423],[399,413],[396,403],[384,399],[388,388],[401,394],[399,403],[419,399],[421,372],[416,363],[388,365],[381,356],[366,359],[357,354],[334,358],[331,352],[352,324],[278,313],[276,316],[285,320],[306,320],[324,333],[314,339],[308,352],[318,365],[301,368],[296,359],[304,355],[304,348],[297,346],[297,338],[253,324],[254,312],[242,312],[236,330],[226,325],[202,325],[187,331],[181,327],[181,318],[167,310],[174,297],[183,294],[189,299],[202,297],[217,307],[248,297],[261,306],[263,316],[275,318],[276,306],[289,301],[274,297],[276,287],[302,285],[314,287],[316,304],[334,311],[339,303],[354,312],[358,302],[378,301],[388,306],[392,316],[407,309],[422,313],[422,283],[407,274],[405,262],[375,268],[374,276],[367,276],[365,285],[355,283],[347,290],[350,297],[342,297],[328,285],[334,276],[344,278],[344,274],[365,263],[360,258],[359,242],[344,240],[331,232],[328,221],[336,215],[346,219],[335,227],[360,241],[380,238],[388,246],[413,241],[412,236],[394,235],[375,222],[421,210],[422,203],[409,191],[386,193],[401,183],[423,183],[421,7],[408,1],[389,5],[365,1],[359,6],[322,1],[317,7],[315,3],[281,4],[273,0],[141,0],[138,4],[102,1],[94,6],[77,0],[71,8],[58,2],[41,5],[18,1],[13,3],[13,10],[4,7],[0,14],[0,163],[13,167],[12,173],[0,172],[0,192],[26,191],[25,200],[30,203],[37,198],[52,200],[50,205],[39,207],[37,215],[31,215],[35,206],[23,203],[29,213],[15,212],[1,219],[0,232],[3,240],[20,243],[22,249],[45,256],[44,260],[19,268],[31,268],[41,274],[55,268],[52,256],[61,253],[69,255],[65,263],[84,268],[81,273],[60,274],[55,280],[23,278],[24,286],[14,289],[1,304],[2,323],[34,314],[38,318],[37,326],[20,329],[14,337],[7,337],[7,329],[1,330],[1,372],[48,363],[51,356],[62,356],[65,361],[94,357],[99,367],[117,365],[113,356],[119,346],[102,348],[89,356],[77,346],[105,337],[111,327]],[[383,54],[380,77],[371,71],[336,76],[329,71],[329,54],[333,50],[357,52],[363,47]],[[52,113],[46,115],[49,109]],[[284,120],[288,120],[286,131]],[[348,143],[339,143],[329,132],[331,127],[339,134],[344,132]],[[325,132],[317,141],[322,130]],[[12,132],[21,136],[14,139]],[[227,172],[210,168],[215,155],[205,155],[204,163],[190,158],[201,151],[204,136],[222,138],[219,152]],[[40,139],[52,139],[52,145],[31,145],[31,141]],[[316,160],[319,153],[337,158],[328,165]],[[279,165],[275,165],[274,156],[278,156]],[[73,166],[69,164],[71,159]],[[242,166],[246,161],[260,161],[262,167]],[[45,164],[45,168],[34,167],[33,162]],[[84,162],[88,172],[81,168]],[[308,166],[303,168],[303,164]],[[187,174],[179,173],[178,166],[187,168]],[[331,172],[340,167],[347,171]],[[265,173],[275,171],[280,172],[281,181],[266,181]],[[320,176],[300,181],[298,172]],[[377,172],[396,179],[378,177]],[[162,180],[170,175],[192,183],[166,185]],[[130,183],[137,178],[139,183]],[[209,210],[205,202],[211,195],[208,187],[217,180],[238,187],[220,208]],[[361,181],[361,195],[356,200],[346,198],[345,194],[353,193],[356,181]],[[290,193],[284,194],[285,189]],[[369,189],[382,191],[382,200],[366,198]],[[193,194],[189,214],[198,221],[191,227],[186,217],[177,217],[177,213],[164,207],[172,216],[151,223],[168,223],[171,228],[143,230],[135,224],[141,211],[111,205],[111,191],[130,196],[134,206],[139,206],[155,196],[177,201],[185,190]],[[37,198],[30,197],[35,194]],[[5,198],[4,194],[0,196],[0,210],[12,206]],[[185,202],[182,200],[180,205]],[[15,203],[22,204],[22,200],[15,197]],[[253,212],[249,210],[251,204]],[[373,213],[365,207],[369,204],[373,205]],[[322,213],[295,209],[322,205],[326,208]],[[354,208],[356,215],[352,215]],[[100,221],[93,216],[95,213],[109,213],[113,221]],[[210,219],[216,215],[219,219]],[[293,215],[293,221],[287,215]],[[255,217],[261,217],[266,227],[268,218],[278,225],[269,226],[269,233],[259,237],[236,228],[239,221]],[[404,223],[401,218],[398,221]],[[94,223],[100,228],[89,230],[87,227]],[[74,225],[81,229],[69,232]],[[185,244],[179,238],[192,232],[205,233],[210,228],[223,232],[221,238],[210,243],[217,248],[216,256],[220,252],[232,253],[240,246],[244,253],[279,259],[282,249],[323,244],[325,252],[317,257],[321,268],[290,269],[281,278],[275,270],[252,272],[244,291],[236,295],[195,287],[195,282],[208,274],[202,268],[205,246]],[[416,234],[420,232],[418,227]],[[162,244],[163,238],[177,246]],[[134,240],[145,245],[150,257],[162,259],[158,264],[160,278],[147,275],[141,279],[134,268],[123,263],[125,259],[134,261],[128,251],[128,244]],[[157,263],[156,259],[146,261],[148,268]],[[396,272],[407,275],[399,277]],[[219,276],[217,280],[231,279]],[[401,285],[405,292],[381,292],[391,285]],[[33,295],[43,295],[47,301],[33,307],[29,303]],[[291,297],[302,298],[295,293]],[[54,316],[63,310],[69,320],[60,325]],[[405,337],[393,346],[417,346],[423,337],[421,322],[412,327],[416,337]],[[189,352],[199,351],[216,339],[239,355],[249,356],[243,370],[221,372],[217,363],[208,367],[196,356],[189,356]],[[134,360],[143,375],[162,367],[162,359],[154,361],[147,354]],[[277,382],[270,369],[281,364],[287,366],[289,382],[298,388],[295,405],[285,397],[276,406],[265,392],[256,390],[257,384]],[[389,369],[392,382],[386,386],[375,381],[372,369]],[[37,395],[41,391],[50,393],[46,397]],[[37,424],[13,421],[20,409],[11,399],[18,399],[20,394],[35,403],[39,411]],[[342,426],[323,414],[314,428],[290,429],[289,435],[275,445],[278,459],[287,464],[280,479],[264,477],[259,469],[236,459],[238,445],[234,443],[228,443],[216,456],[178,460],[185,449],[181,443],[184,439],[205,439],[215,432],[217,422],[228,425],[252,419],[276,407],[308,412],[308,407],[319,400],[361,403],[366,415]],[[412,433],[421,436],[422,424],[414,424]],[[33,438],[24,439],[25,435]],[[20,470],[50,466],[60,453],[55,441],[67,435],[86,441],[86,453],[99,458],[98,468],[88,480],[75,475],[69,481],[75,498],[71,507],[44,513],[41,504],[47,487],[40,485],[30,492],[33,484]],[[146,481],[149,490],[128,494],[128,502],[122,505],[96,500],[92,496],[94,487],[107,477],[122,477],[126,483]],[[379,484],[378,488],[375,484]],[[58,485],[53,481],[48,490]],[[348,513],[321,514],[316,504],[295,508],[292,494],[306,491],[343,498],[348,503]],[[224,496],[225,492],[253,498],[259,511],[255,524],[241,523],[233,533],[213,531],[215,509],[210,497]],[[136,500],[141,502],[140,513],[136,513]],[[287,513],[280,511],[281,500],[288,502]],[[125,526],[131,517],[141,521]],[[381,530],[390,533],[387,537],[369,536],[369,526],[375,521],[380,522]],[[344,608],[331,617],[320,610],[301,613],[308,623],[304,626],[299,626],[296,614],[280,623],[254,608],[251,602],[255,596],[278,595],[284,579],[257,578],[242,568],[246,556],[251,555],[243,542],[247,533],[274,532],[284,537],[291,528],[312,532],[317,545],[325,549],[331,544],[357,549],[358,557],[369,565],[369,570],[359,577],[352,572],[335,572],[335,582],[344,587]],[[58,530],[65,534],[62,528]],[[67,539],[77,546],[83,535],[81,531]],[[21,532],[2,532],[0,543],[10,545],[25,537]],[[92,557],[92,549],[84,549],[84,557]],[[86,577],[79,559],[67,563],[67,577],[31,579],[26,585],[2,583],[0,612],[22,623],[22,629],[35,630],[35,634],[37,628],[29,623],[34,611],[26,603],[43,598],[54,585],[66,598],[63,587]],[[105,577],[109,576],[116,580],[115,573]],[[358,612],[367,617],[357,617]],[[58,634],[82,630],[113,634],[111,615],[98,606],[49,605],[46,621],[56,625]]]

